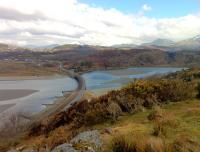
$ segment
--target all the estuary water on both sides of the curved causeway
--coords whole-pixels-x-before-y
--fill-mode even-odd
[[[180,71],[182,68],[128,68],[110,71],[94,71],[83,74],[87,89],[96,94],[119,88],[134,78],[144,78],[154,74],[165,74]],[[32,89],[38,92],[18,99],[1,101],[0,106],[16,104],[7,111],[23,110],[29,112],[41,111],[42,104],[53,103],[56,96],[62,96],[62,91],[73,90],[76,82],[68,77],[52,78],[45,80],[0,81],[0,90],[3,89]],[[4,111],[5,112],[5,111]]]

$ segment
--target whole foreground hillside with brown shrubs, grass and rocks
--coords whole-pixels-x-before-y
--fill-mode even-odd
[[[32,125],[28,134],[17,137],[14,147],[44,151],[44,147],[54,149],[70,142],[72,145],[65,148],[83,152],[88,148],[105,152],[197,152],[199,87],[199,69],[137,80]],[[2,150],[3,145],[10,145],[5,139]]]

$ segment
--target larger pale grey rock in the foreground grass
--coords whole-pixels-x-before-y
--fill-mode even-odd
[[[78,134],[76,137],[74,137],[70,143],[72,145],[77,145],[81,143],[88,143],[91,146],[85,147],[90,149],[91,152],[101,150],[102,147],[102,141],[100,139],[100,133],[98,130],[93,130],[93,131],[85,131],[80,134]]]

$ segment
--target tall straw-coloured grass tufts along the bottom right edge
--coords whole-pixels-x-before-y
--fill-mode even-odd
[[[123,134],[113,138],[112,152],[199,152],[200,144],[188,135],[177,137],[172,143],[164,138],[143,134]]]

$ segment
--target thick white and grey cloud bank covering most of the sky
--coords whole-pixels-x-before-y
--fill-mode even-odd
[[[144,10],[150,10],[150,6],[144,5]],[[1,42],[138,44],[155,38],[181,40],[199,31],[200,14],[155,19],[93,7],[76,0],[0,1]]]

